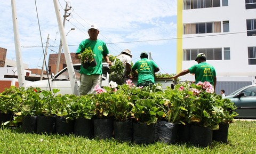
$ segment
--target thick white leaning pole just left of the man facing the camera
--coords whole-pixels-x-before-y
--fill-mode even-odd
[[[60,31],[60,37],[62,40],[63,51],[64,51],[65,59],[67,62],[68,75],[69,75],[69,79],[70,79],[71,89],[72,89],[73,94],[80,95],[79,90],[78,90],[78,84],[77,84],[77,80],[76,80],[75,70],[73,67],[71,55],[70,55],[69,48],[68,48],[68,43],[67,43],[66,36],[65,36],[65,30],[61,23],[61,15],[60,15],[57,0],[53,0],[53,3],[54,3],[54,7],[55,7],[55,13],[56,13],[58,25],[59,25],[59,31]]]

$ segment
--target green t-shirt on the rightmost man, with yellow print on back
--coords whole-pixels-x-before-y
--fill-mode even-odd
[[[216,72],[211,64],[201,62],[190,67],[188,70],[190,74],[195,74],[196,84],[198,82],[209,82],[213,85]]]

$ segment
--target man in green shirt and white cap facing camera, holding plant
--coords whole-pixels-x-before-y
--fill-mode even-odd
[[[93,93],[94,88],[97,85],[101,85],[102,56],[109,65],[111,64],[108,57],[109,51],[105,42],[98,39],[99,33],[100,31],[98,26],[91,25],[88,30],[89,39],[82,40],[76,51],[76,58],[81,59],[81,53],[84,52],[85,48],[88,49],[90,47],[95,54],[94,59],[97,62],[97,66],[89,66],[87,69],[83,68],[81,65],[79,86],[79,92],[81,95]]]

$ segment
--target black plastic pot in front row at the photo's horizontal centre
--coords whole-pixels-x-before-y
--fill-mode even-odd
[[[132,121],[114,121],[115,139],[122,142],[132,141]]]

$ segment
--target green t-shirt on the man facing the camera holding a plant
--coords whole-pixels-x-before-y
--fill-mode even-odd
[[[101,75],[102,74],[102,56],[106,56],[109,54],[108,48],[106,43],[102,40],[90,40],[85,39],[83,40],[76,51],[76,54],[84,52],[85,48],[91,47],[93,53],[95,54],[94,59],[97,62],[97,66],[89,67],[87,69],[81,66],[80,74],[86,75]]]

